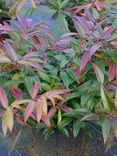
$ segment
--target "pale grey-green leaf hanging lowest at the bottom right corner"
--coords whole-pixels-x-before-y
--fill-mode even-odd
[[[106,143],[108,140],[110,129],[111,129],[110,120],[104,119],[102,123],[102,134],[103,134],[104,143]]]

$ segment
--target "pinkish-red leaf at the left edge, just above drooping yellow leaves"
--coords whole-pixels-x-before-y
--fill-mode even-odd
[[[8,99],[2,87],[0,87],[0,102],[4,108],[8,107]]]

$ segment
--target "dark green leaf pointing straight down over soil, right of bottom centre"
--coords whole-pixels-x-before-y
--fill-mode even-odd
[[[78,133],[79,133],[79,131],[80,131],[81,123],[82,123],[82,122],[79,121],[79,120],[75,120],[75,121],[73,122],[73,135],[74,135],[74,138],[77,137],[77,135],[78,135]]]

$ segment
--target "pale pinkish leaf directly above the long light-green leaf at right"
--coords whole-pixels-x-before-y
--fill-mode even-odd
[[[95,74],[96,74],[96,76],[97,76],[98,81],[99,81],[101,84],[103,84],[103,83],[104,83],[104,74],[103,74],[103,72],[102,72],[101,69],[100,69],[96,64],[94,64],[94,63],[93,63],[93,68],[94,68],[94,72],[95,72]]]

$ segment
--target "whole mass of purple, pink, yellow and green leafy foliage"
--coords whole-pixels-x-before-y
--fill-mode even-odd
[[[0,25],[0,33],[9,36],[0,41],[4,135],[16,123],[43,128],[46,139],[55,129],[76,137],[97,124],[109,148],[117,137],[116,8],[99,0],[47,1],[55,10],[52,18],[64,14],[65,23],[74,24],[74,31],[56,41],[45,22],[34,25],[17,16],[24,3],[17,2],[16,14],[11,5],[17,18]]]

